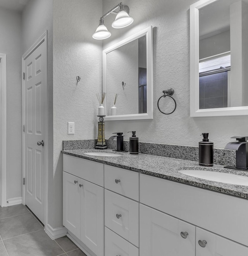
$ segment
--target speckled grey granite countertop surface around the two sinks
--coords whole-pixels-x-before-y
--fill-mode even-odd
[[[219,171],[231,174],[239,174],[241,176],[247,176],[246,171],[236,171],[233,169],[223,168],[222,165],[214,165],[214,167],[202,167],[198,165],[198,162],[181,160],[169,157],[159,157],[155,155],[138,154],[131,155],[127,153],[119,153],[121,156],[118,157],[100,157],[94,155],[86,155],[86,152],[99,151],[99,152],[113,152],[112,150],[63,150],[62,153],[72,155],[75,157],[81,157],[95,162],[108,164],[116,167],[121,167],[131,171],[136,171],[152,176],[156,176],[163,179],[169,179],[199,188],[205,188],[208,190],[233,195],[248,199],[248,186],[232,185],[227,183],[220,183],[216,181],[210,181],[206,179],[195,178],[178,172],[182,169],[196,169],[196,170],[208,170],[208,171]]]

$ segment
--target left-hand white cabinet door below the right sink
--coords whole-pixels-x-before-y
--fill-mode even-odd
[[[195,226],[140,204],[140,255],[195,255]]]

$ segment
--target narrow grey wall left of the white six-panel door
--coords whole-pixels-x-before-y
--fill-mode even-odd
[[[7,199],[22,196],[21,14],[0,9],[0,52],[7,54]],[[13,160],[14,159],[14,160]]]

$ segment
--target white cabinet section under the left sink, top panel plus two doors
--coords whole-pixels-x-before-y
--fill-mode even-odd
[[[94,184],[104,184],[103,164],[69,155],[63,163],[63,225],[87,250],[104,256],[104,188]]]

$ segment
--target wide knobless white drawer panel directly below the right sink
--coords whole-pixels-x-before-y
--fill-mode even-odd
[[[248,246],[247,199],[140,174],[140,202]]]

